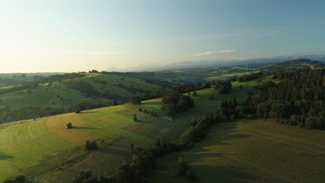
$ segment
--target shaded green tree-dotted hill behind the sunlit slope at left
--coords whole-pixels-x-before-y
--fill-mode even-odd
[[[105,107],[113,105],[113,101],[128,103],[133,96],[152,94],[155,89],[164,92],[172,86],[102,73],[83,73],[80,76],[0,89],[0,122],[63,114],[77,108]]]

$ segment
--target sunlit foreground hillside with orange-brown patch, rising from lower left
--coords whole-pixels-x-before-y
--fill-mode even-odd
[[[244,89],[239,89],[239,85],[244,85]],[[252,85],[255,85],[255,82],[235,82],[233,93],[229,95],[218,95],[215,89],[198,91],[198,96],[194,97],[196,106],[190,112],[173,117],[172,121],[167,120],[165,112],[159,110],[161,99],[157,98],[144,101],[142,105],[126,104],[88,110],[81,114],[50,116],[12,125],[8,123],[0,132],[0,168],[7,170],[1,172],[0,180],[17,174],[19,170],[39,182],[65,182],[78,171],[88,169],[98,175],[109,175],[117,164],[128,157],[128,146],[131,143],[151,146],[157,137],[165,141],[177,139],[188,127],[190,119],[206,112],[215,112],[220,100],[224,98],[244,98]],[[214,101],[208,101],[210,94],[215,94]],[[154,111],[158,116],[138,112],[139,107]],[[140,122],[133,121],[133,114],[137,114]],[[67,130],[65,125],[69,122],[74,128]],[[42,129],[36,128],[35,124],[40,125]],[[15,137],[15,140],[10,139],[12,137]],[[101,148],[94,152],[83,150],[81,145],[86,140],[93,139],[97,139]],[[23,148],[17,141],[24,143]],[[35,148],[36,152],[33,153],[34,150],[30,151],[28,147],[35,146],[38,148]],[[31,156],[25,159],[27,151],[30,151]]]

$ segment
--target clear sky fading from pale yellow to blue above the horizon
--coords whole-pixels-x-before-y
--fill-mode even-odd
[[[325,51],[325,1],[0,1],[0,72]]]

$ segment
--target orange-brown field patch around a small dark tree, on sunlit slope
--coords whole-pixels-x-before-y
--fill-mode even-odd
[[[67,123],[72,123],[73,128],[67,129],[65,127]],[[79,118],[77,114],[69,113],[50,116],[47,120],[47,128],[49,128],[50,132],[62,137],[63,139],[66,139],[67,141],[82,145],[85,143],[85,141],[94,139],[85,132],[77,129],[78,125],[82,125],[84,123],[85,121]]]

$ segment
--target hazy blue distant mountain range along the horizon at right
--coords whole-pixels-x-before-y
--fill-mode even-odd
[[[229,67],[235,65],[250,65],[258,63],[274,63],[288,60],[297,60],[300,58],[317,60],[325,62],[325,52],[310,52],[310,53],[295,53],[294,55],[274,56],[272,58],[252,58],[247,60],[197,60],[197,61],[182,61],[171,64],[144,64],[136,67],[128,67],[126,69],[118,69],[110,67],[106,71],[120,71],[120,72],[137,72],[137,71],[163,71],[170,69],[193,69],[204,67]]]

